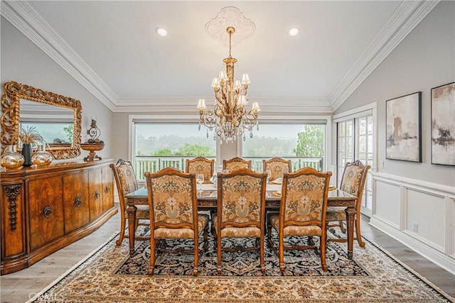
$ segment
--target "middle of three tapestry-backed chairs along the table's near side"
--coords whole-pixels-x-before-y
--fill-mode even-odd
[[[213,216],[213,236],[217,243],[218,275],[223,272],[222,251],[259,250],[261,272],[265,272],[265,191],[266,173],[240,168],[218,175],[218,209]],[[256,238],[256,246],[223,248],[223,238]]]

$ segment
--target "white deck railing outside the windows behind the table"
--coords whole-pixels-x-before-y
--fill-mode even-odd
[[[164,167],[175,167],[178,170],[185,171],[186,159],[193,159],[194,156],[144,156],[137,155],[134,162],[134,169],[138,180],[144,180],[144,172],[158,172]],[[205,157],[215,159],[215,157]],[[291,160],[292,171],[302,167],[313,167],[316,170],[323,170],[323,158],[312,157],[282,157]],[[269,160],[270,157],[244,157],[245,160],[251,160],[252,170],[262,172],[262,160]],[[216,159],[215,159],[216,161]],[[215,167],[217,167],[215,162]],[[216,170],[216,168],[215,168]]]

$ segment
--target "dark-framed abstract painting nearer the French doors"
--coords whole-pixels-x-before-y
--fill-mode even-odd
[[[422,92],[385,101],[385,158],[422,162]]]

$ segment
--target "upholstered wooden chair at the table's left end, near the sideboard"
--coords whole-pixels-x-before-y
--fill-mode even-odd
[[[119,193],[120,202],[120,235],[119,239],[115,242],[117,246],[122,244],[123,238],[128,238],[128,233],[125,233],[125,227],[127,226],[127,204],[125,195],[134,192],[138,189],[136,174],[134,173],[131,162],[123,159],[117,160],[115,164],[109,165],[114,173],[115,184],[117,185],[117,192]],[[140,225],[149,226],[149,205],[137,205],[136,211],[136,222],[134,222],[134,234],[135,240],[144,241],[149,240],[149,236],[137,236],[136,230]]]

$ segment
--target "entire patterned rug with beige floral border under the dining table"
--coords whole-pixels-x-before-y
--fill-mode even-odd
[[[287,252],[283,275],[268,249],[264,275],[257,253],[223,253],[223,276],[217,276],[210,240],[200,273],[192,277],[191,255],[161,255],[149,276],[149,241],[137,243],[130,259],[127,240],[117,247],[115,239],[30,302],[454,302],[370,241],[365,248],[355,244],[354,260],[346,258],[346,243],[330,242],[328,272],[312,250]]]

